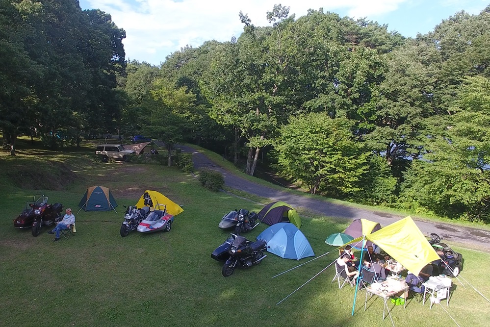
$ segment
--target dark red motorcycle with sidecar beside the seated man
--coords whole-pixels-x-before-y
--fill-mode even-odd
[[[44,194],[36,194],[33,201],[27,201],[26,208],[14,219],[14,227],[31,228],[32,236],[41,233],[43,226],[50,226],[61,217],[63,205],[61,203],[48,203]]]

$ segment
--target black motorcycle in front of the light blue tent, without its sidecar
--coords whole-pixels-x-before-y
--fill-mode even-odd
[[[233,274],[235,268],[249,268],[258,265],[267,256],[263,252],[267,249],[267,242],[258,240],[252,242],[240,235],[234,235],[234,239],[228,249],[230,257],[223,265],[221,273],[224,277]]]

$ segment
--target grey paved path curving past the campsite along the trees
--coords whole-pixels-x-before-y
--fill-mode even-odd
[[[259,197],[272,199],[275,201],[284,201],[292,206],[308,208],[310,211],[331,217],[344,218],[348,221],[365,218],[387,226],[401,218],[383,212],[357,209],[341,204],[327,203],[302,197],[288,192],[281,192],[266,186],[259,185],[247,179],[238,177],[230,171],[222,168],[211,161],[203,153],[196,151],[188,146],[179,146],[184,152],[193,153],[194,168],[210,168],[220,171],[225,176],[225,185],[240,191],[255,194]],[[455,242],[472,249],[479,249],[490,252],[490,232],[484,229],[462,227],[440,222],[430,222],[425,220],[414,219],[415,224],[424,234],[437,233],[442,236],[448,243]]]

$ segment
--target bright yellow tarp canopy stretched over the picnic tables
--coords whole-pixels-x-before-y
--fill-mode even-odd
[[[410,216],[345,245],[357,243],[363,238],[379,246],[415,275],[418,275],[425,265],[440,259]]]

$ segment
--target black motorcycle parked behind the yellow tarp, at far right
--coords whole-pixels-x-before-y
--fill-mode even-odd
[[[446,243],[442,243],[442,237],[436,233],[430,234],[429,243],[440,257],[440,260],[432,262],[433,275],[446,275],[457,277],[463,269],[463,254],[451,249]]]

